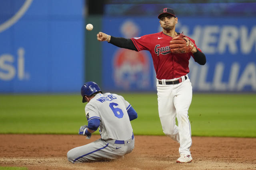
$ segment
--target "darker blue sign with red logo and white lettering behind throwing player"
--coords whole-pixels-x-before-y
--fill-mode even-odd
[[[140,37],[161,31],[157,17],[105,17],[103,31],[115,37]],[[206,55],[204,66],[190,59],[193,90],[256,92],[256,19],[178,17],[177,32],[196,41]],[[151,55],[103,45],[103,84],[108,90],[154,90]]]

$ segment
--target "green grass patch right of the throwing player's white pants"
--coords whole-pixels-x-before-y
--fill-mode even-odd
[[[256,94],[197,94],[189,116],[192,135],[256,137]]]

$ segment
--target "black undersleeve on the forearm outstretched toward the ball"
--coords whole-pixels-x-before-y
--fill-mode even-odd
[[[121,37],[113,37],[111,35],[109,43],[111,43],[117,47],[124,48],[124,49],[138,51],[131,39],[126,39],[126,38],[121,38]]]

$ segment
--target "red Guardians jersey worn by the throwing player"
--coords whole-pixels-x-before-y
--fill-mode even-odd
[[[188,39],[196,47],[195,41],[190,37]],[[132,38],[132,42],[138,51],[148,50],[151,53],[156,70],[156,78],[159,80],[178,78],[188,74],[188,61],[190,56],[194,58],[191,52],[184,54],[171,53],[169,47],[171,40],[172,37],[163,32]]]

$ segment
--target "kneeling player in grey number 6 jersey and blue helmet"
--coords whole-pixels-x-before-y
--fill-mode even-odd
[[[101,139],[87,145],[71,149],[68,160],[88,162],[111,160],[122,157],[134,149],[134,134],[131,120],[137,118],[136,111],[122,96],[104,93],[95,82],[86,82],[81,88],[88,125],[79,129],[80,135],[90,139],[99,127]]]

